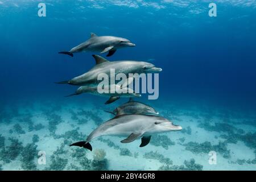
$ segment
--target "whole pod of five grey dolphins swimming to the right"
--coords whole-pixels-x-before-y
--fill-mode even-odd
[[[90,39],[81,43],[79,46],[72,48],[68,52],[59,52],[73,57],[73,53],[82,51],[98,51],[100,53],[108,52],[107,56],[112,56],[118,48],[133,47],[135,44],[130,40],[118,38],[115,36],[97,36],[91,33]],[[139,147],[147,146],[150,143],[151,135],[166,133],[169,131],[179,131],[181,126],[174,125],[166,118],[160,117],[158,112],[151,106],[143,104],[142,102],[134,101],[131,97],[141,97],[141,94],[135,93],[134,90],[128,88],[130,79],[127,79],[125,84],[109,84],[108,93],[99,93],[97,90],[98,75],[105,73],[110,79],[115,77],[118,73],[123,73],[128,78],[129,73],[159,73],[161,68],[155,67],[154,64],[145,61],[121,60],[109,61],[104,57],[93,55],[96,65],[88,72],[74,77],[67,81],[56,82],[56,84],[69,84],[80,86],[75,93],[68,95],[75,96],[82,93],[89,93],[103,97],[110,97],[105,104],[110,104],[120,97],[130,97],[130,100],[122,104],[113,111],[106,111],[114,114],[114,118],[102,123],[89,134],[89,136],[80,142],[71,144],[70,146],[84,147],[92,151],[90,142],[97,137],[106,135],[124,137],[121,143],[130,143],[136,139],[141,139]],[[114,74],[112,73],[114,69]],[[122,88],[121,88],[122,87]],[[115,88],[115,92],[111,92]],[[117,93],[116,89],[126,89],[127,92]]]

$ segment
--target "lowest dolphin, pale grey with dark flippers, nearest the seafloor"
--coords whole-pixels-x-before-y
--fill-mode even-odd
[[[121,143],[130,143],[141,138],[139,147],[144,147],[150,142],[153,134],[179,131],[181,129],[181,126],[174,125],[168,119],[156,115],[118,115],[98,126],[85,141],[76,142],[70,146],[84,147],[92,151],[92,146],[89,143],[91,140],[110,135],[125,137],[125,139],[121,140]]]

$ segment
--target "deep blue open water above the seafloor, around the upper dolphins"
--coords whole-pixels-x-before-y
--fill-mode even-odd
[[[144,95],[141,101],[163,110],[172,102],[193,102],[255,114],[255,1],[214,1],[217,17],[208,15],[210,1],[44,2],[47,14],[39,17],[38,1],[0,0],[2,107],[39,100],[85,106],[92,101],[104,107],[106,98],[65,98],[76,86],[53,83],[93,67],[91,55],[98,52],[74,57],[57,52],[75,47],[94,32],[137,45],[118,49],[110,61],[152,59],[163,69],[159,99],[148,101]]]

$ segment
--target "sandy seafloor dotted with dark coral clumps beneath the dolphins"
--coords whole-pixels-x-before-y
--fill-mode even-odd
[[[125,102],[126,100],[122,100]],[[147,103],[147,102],[146,102]],[[0,170],[256,170],[256,115],[207,105],[154,107],[182,131],[140,140],[101,137],[93,152],[69,144],[84,140],[113,115],[116,104],[99,107],[96,101],[20,101],[0,108]],[[147,103],[148,104],[148,103]],[[38,164],[38,152],[46,164]],[[216,163],[209,164],[209,151]]]

